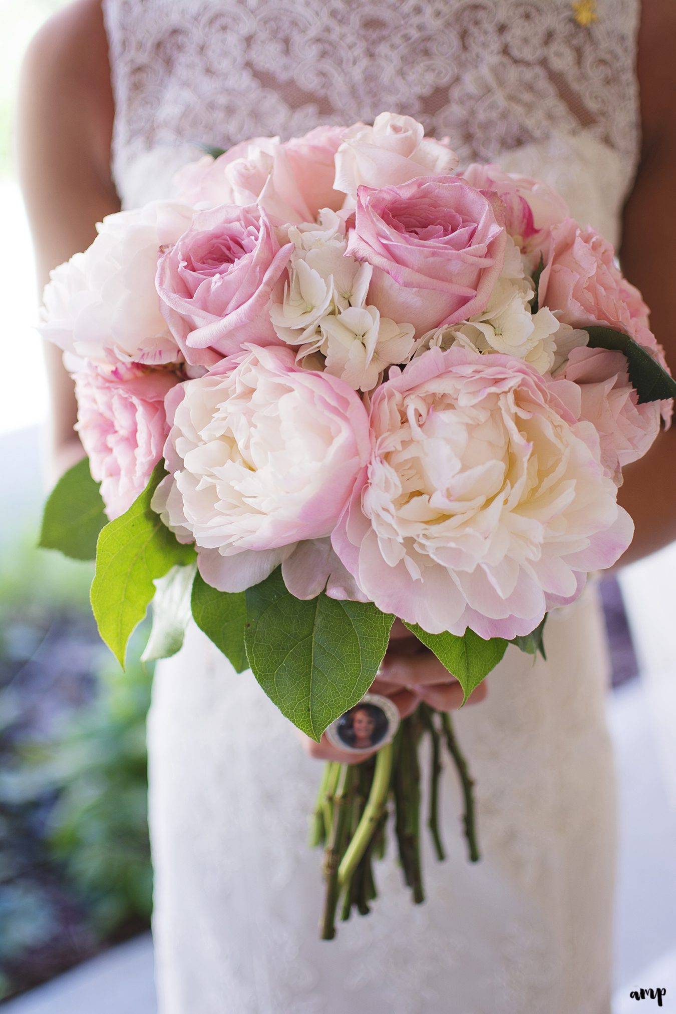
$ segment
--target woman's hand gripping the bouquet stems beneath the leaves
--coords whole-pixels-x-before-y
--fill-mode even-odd
[[[371,691],[389,698],[398,708],[401,718],[410,715],[421,701],[437,711],[455,711],[462,704],[462,687],[455,676],[406,630],[400,620],[395,620],[392,625],[389,646]],[[478,704],[486,694],[484,680],[470,695],[467,704]],[[317,760],[361,764],[377,752],[340,750],[329,743],[325,733],[318,743],[300,731],[298,735],[305,752]]]

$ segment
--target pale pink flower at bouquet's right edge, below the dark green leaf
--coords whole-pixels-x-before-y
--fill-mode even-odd
[[[621,352],[573,349],[564,375],[579,384],[581,418],[599,434],[601,463],[619,486],[624,465],[643,457],[660,432],[662,403],[639,405]]]

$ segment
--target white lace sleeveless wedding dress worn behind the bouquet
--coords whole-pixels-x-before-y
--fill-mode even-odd
[[[617,239],[637,150],[637,0],[104,0],[127,206],[170,191],[195,142],[370,120],[450,135],[462,162],[545,177]],[[590,9],[591,9],[590,5]],[[580,23],[583,22],[583,23]],[[552,615],[549,661],[510,648],[456,728],[477,782],[469,866],[455,775],[448,860],[414,908],[393,858],[371,916],[316,939],[320,766],[250,673],[196,629],[150,715],[161,1014],[607,1014],[615,815],[603,621]]]

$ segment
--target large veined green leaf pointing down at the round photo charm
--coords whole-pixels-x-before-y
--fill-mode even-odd
[[[279,569],[248,589],[246,608],[244,641],[256,679],[318,741],[373,682],[394,618],[370,602],[336,601],[323,592],[301,601],[287,591]]]

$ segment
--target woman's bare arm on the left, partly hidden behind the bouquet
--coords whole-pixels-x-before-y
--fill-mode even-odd
[[[77,0],[34,37],[20,81],[19,172],[41,292],[52,268],[88,246],[95,223],[120,209],[110,177],[112,118],[100,0]],[[46,356],[58,475],[83,452],[61,351],[48,345]]]

